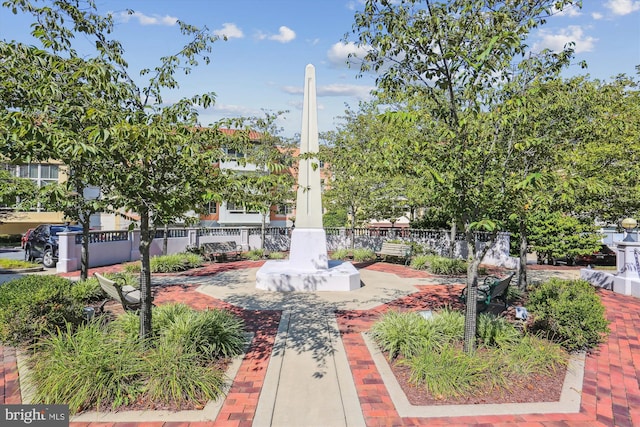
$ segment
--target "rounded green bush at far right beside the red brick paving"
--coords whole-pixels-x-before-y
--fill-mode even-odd
[[[569,351],[589,350],[609,331],[605,308],[584,280],[551,279],[529,293],[533,330],[544,332]]]

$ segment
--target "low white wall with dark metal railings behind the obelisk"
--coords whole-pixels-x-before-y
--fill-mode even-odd
[[[352,233],[345,228],[327,228],[327,249],[334,251],[354,247],[377,251],[387,240],[414,241],[431,248],[439,254],[449,250],[450,235],[447,230],[357,228]],[[162,254],[163,230],[158,230],[153,240],[151,256]],[[58,264],[59,273],[80,269],[82,251],[81,233],[69,232],[59,235]],[[288,251],[291,242],[291,229],[270,227],[266,230],[264,245],[261,242],[260,228],[220,227],[220,228],[171,228],[168,230],[167,253],[186,251],[189,247],[198,247],[203,243],[233,241],[243,250],[264,248],[269,251]],[[482,243],[480,243],[482,244]],[[510,239],[508,233],[498,236],[496,245],[485,256],[484,263],[514,268],[515,259],[509,256]],[[90,231],[89,267],[120,264],[140,259],[140,231]],[[456,256],[466,257],[467,246],[462,235],[456,236]]]

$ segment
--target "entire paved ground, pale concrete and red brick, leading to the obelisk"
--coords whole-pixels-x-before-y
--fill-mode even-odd
[[[556,406],[499,406],[489,412],[455,407],[450,413],[398,404],[391,374],[376,366],[362,332],[393,307],[428,309],[455,301],[461,279],[429,276],[410,268],[376,263],[360,269],[362,288],[353,292],[274,293],[255,289],[259,263],[214,264],[183,275],[157,275],[156,304],[181,301],[195,308],[224,307],[241,316],[254,334],[237,361],[223,402],[203,411],[144,414],[83,414],[79,426],[380,426],[380,425],[640,425],[640,301],[601,291],[612,321],[606,345],[587,356],[575,410]],[[531,280],[578,276],[577,269],[540,270]],[[0,354],[0,403],[20,403],[15,351]],[[574,388],[579,388],[574,387]],[[574,394],[576,392],[574,391]],[[407,412],[409,411],[409,412]],[[411,412],[412,411],[412,412]]]

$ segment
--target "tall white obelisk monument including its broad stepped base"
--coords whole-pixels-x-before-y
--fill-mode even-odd
[[[296,228],[289,259],[267,261],[256,273],[256,287],[269,291],[351,291],[360,288],[360,273],[349,262],[329,261],[322,226],[316,71],[304,74],[302,132],[298,162]]]

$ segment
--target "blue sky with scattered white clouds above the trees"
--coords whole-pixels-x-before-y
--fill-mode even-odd
[[[207,27],[221,39],[213,45],[211,63],[180,76],[180,88],[165,102],[214,92],[212,109],[200,113],[208,125],[221,118],[263,116],[264,111],[288,111],[279,121],[283,137],[300,132],[304,70],[316,68],[318,128],[333,130],[347,107],[357,109],[375,87],[375,75],[358,77],[357,66],[347,65],[356,49],[345,44],[354,14],[362,0],[96,0],[100,13],[113,13],[112,38],[122,42],[132,76],[153,68],[159,58],[176,53],[188,39],[177,20]],[[133,15],[126,13],[134,10]],[[0,7],[0,38],[34,43],[31,19]],[[222,40],[226,36],[226,41]],[[350,34],[350,40],[355,36]],[[532,50],[559,50],[575,42],[575,62],[565,75],[589,74],[609,80],[635,75],[640,64],[640,0],[584,0],[550,17],[528,39]],[[82,42],[82,40],[80,40]],[[137,81],[144,86],[145,79]]]

